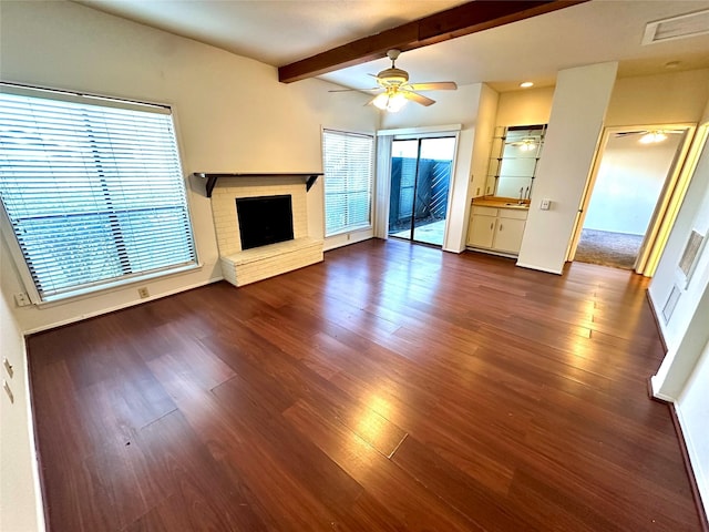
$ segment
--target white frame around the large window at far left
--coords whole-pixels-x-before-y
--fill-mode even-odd
[[[199,260],[197,241],[195,238],[195,227],[189,197],[191,187],[186,178],[186,174],[183,170],[183,151],[179,131],[177,127],[178,120],[173,105],[154,102],[138,102],[116,96],[89,94],[83,92],[56,90],[50,88],[39,88],[10,82],[0,82],[0,91],[16,95],[43,98],[50,101],[90,103],[93,105],[97,105],[99,108],[117,108],[132,111],[148,111],[155,114],[168,115],[172,122],[172,134],[176,151],[175,163],[178,167],[179,181],[182,182],[183,187],[182,192],[184,192],[184,213],[187,218],[184,236],[187,238],[188,243],[192,246],[188,250],[194,257],[193,260],[186,264],[165,266],[164,268],[137,272],[134,274],[121,275],[119,277],[109,277],[102,280],[84,283],[83,285],[78,285],[76,287],[66,289],[62,293],[42,297],[30,270],[30,265],[28,264],[28,260],[25,260],[24,253],[22,252],[21,245],[18,241],[18,236],[14,232],[10,216],[6,211],[4,203],[0,201],[0,233],[2,234],[2,238],[4,239],[4,243],[10,252],[9,255],[16,266],[19,280],[22,284],[22,288],[28,295],[30,301],[29,304],[40,307],[55,306],[76,298],[82,299],[86,297],[95,297],[96,295],[101,295],[104,293],[116,291],[127,285],[145,283],[147,280],[165,278],[173,275],[182,275],[188,272],[201,269],[203,267],[203,264]]]

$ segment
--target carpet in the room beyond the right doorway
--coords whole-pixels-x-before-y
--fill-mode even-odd
[[[641,235],[583,229],[574,260],[633,269],[643,238]]]

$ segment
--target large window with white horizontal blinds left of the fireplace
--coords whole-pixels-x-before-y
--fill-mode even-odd
[[[168,108],[0,84],[0,197],[42,301],[197,264]]]

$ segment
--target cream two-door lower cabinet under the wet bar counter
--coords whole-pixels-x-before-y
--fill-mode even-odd
[[[526,209],[473,205],[467,227],[467,245],[516,255],[522,247],[526,219]]]

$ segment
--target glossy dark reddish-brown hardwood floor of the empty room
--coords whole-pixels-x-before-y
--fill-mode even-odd
[[[52,531],[699,531],[647,279],[370,241],[32,336]]]

